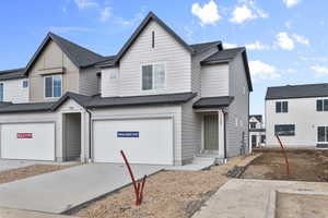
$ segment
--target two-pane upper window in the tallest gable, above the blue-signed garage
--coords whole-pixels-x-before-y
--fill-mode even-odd
[[[142,90],[164,88],[165,64],[155,63],[142,65]]]

